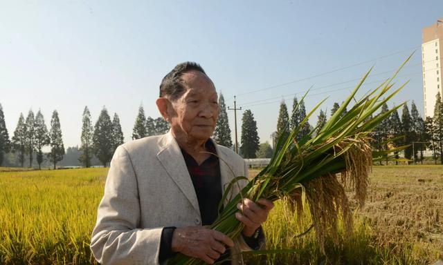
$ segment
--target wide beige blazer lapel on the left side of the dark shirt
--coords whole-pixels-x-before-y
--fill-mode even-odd
[[[177,144],[177,141],[175,141],[171,132],[166,134],[162,140],[163,143],[160,144],[163,145],[163,148],[157,154],[158,159],[168,172],[168,175],[170,175],[177,186],[179,186],[181,192],[186,196],[186,198],[188,198],[190,204],[192,204],[197,213],[200,215],[197,195],[195,194],[195,189],[188,172],[188,167],[186,166],[183,155],[181,154],[179,144]]]

